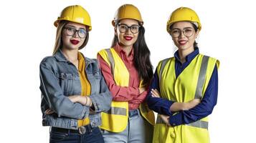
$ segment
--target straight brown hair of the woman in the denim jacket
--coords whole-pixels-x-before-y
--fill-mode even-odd
[[[62,31],[64,29],[64,27],[71,21],[65,21],[62,20],[60,21],[60,23],[57,26],[57,33],[56,33],[56,39],[55,39],[55,44],[54,44],[54,49],[53,49],[53,53],[52,54],[56,54],[56,52],[59,49],[62,49]],[[86,30],[88,31],[88,26],[85,26]],[[89,39],[89,33],[87,33],[87,36],[85,36],[85,41],[84,43],[79,47],[79,49],[82,49],[86,46],[87,42]]]

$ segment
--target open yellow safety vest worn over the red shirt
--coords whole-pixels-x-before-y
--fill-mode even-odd
[[[98,52],[105,62],[111,67],[113,79],[115,84],[121,87],[128,87],[129,85],[129,71],[115,49],[103,49]],[[142,81],[141,81],[142,83]],[[140,87],[141,87],[140,83]],[[142,116],[152,125],[155,124],[155,117],[153,112],[148,108],[146,103],[140,104],[140,111]],[[128,102],[112,101],[111,108],[108,112],[102,112],[101,129],[110,132],[123,132],[128,124]]]

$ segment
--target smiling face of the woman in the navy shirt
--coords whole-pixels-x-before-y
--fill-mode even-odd
[[[189,21],[179,21],[171,27],[171,37],[179,50],[194,50],[194,42],[199,31],[195,31]]]

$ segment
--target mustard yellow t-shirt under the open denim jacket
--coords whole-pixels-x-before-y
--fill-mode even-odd
[[[81,96],[90,95],[90,83],[85,74],[85,59],[80,52],[78,52],[78,71],[81,82]],[[78,120],[78,127],[85,126],[90,123],[90,119],[87,117],[85,119]]]

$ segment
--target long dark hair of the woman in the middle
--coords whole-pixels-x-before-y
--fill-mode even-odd
[[[118,22],[115,22],[115,26],[118,26]],[[140,24],[138,22],[138,24]],[[138,31],[138,39],[133,44],[133,62],[134,66],[138,71],[138,75],[143,79],[143,87],[148,87],[151,84],[151,79],[153,78],[153,66],[150,61],[150,51],[145,41],[145,29],[140,24]],[[115,35],[112,41],[111,47],[114,47],[118,43],[118,36]]]

